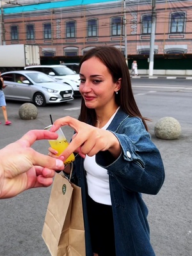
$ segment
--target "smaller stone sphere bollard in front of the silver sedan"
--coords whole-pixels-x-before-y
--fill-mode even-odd
[[[19,116],[21,119],[36,119],[37,114],[37,108],[32,103],[24,103],[19,108]]]

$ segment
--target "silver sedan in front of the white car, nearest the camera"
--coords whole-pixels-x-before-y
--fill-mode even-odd
[[[38,107],[74,100],[72,87],[61,84],[42,72],[17,70],[1,74],[4,96],[9,100],[33,102]]]

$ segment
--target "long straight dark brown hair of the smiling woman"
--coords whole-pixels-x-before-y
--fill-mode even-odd
[[[131,79],[129,75],[129,68],[125,58],[116,47],[113,46],[99,46],[90,49],[81,59],[79,64],[79,70],[84,61],[92,58],[93,56],[99,58],[100,61],[108,68],[111,76],[113,77],[113,83],[116,83],[118,79],[122,79],[121,88],[118,91],[118,94],[115,94],[115,102],[120,106],[125,113],[130,116],[138,116],[142,119],[145,128],[147,129],[147,124],[145,118],[141,116],[140,110],[134,99],[131,87]],[[81,112],[79,115],[79,120],[86,122],[88,124],[95,124],[96,113],[95,109],[89,109],[84,104],[84,99],[81,101]]]

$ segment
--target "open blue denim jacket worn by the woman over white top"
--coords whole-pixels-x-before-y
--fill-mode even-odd
[[[155,255],[150,244],[148,209],[141,193],[156,195],[163,185],[161,155],[140,118],[131,117],[121,109],[108,130],[120,141],[122,154],[118,159],[113,159],[108,151],[99,152],[95,159],[109,174],[116,256]],[[86,212],[87,185],[83,161],[82,157],[76,157],[72,182],[81,187],[86,256],[93,256]]]

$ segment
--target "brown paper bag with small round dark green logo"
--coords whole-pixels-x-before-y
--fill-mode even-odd
[[[52,256],[85,256],[81,188],[56,173],[42,237]]]

